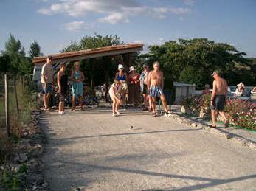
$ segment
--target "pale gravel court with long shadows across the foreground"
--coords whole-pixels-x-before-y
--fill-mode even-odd
[[[255,150],[148,112],[67,112],[41,117],[51,190],[256,190]]]

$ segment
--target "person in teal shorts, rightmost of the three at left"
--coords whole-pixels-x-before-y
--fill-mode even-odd
[[[75,111],[75,100],[79,101],[79,109],[83,110],[83,81],[85,80],[84,74],[80,71],[80,63],[74,63],[74,71],[71,74],[72,80],[72,111]]]

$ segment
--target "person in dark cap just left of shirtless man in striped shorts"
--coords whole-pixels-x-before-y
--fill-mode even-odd
[[[147,111],[148,110],[148,73],[150,72],[148,69],[147,63],[143,64],[143,69],[144,70],[142,74],[140,74],[139,80],[140,80],[140,90],[142,91],[142,96],[144,101],[144,108],[142,108],[142,111]]]

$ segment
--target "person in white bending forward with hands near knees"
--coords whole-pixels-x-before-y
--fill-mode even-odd
[[[116,114],[120,114],[118,110],[119,105],[122,103],[121,99],[118,94],[118,87],[120,86],[120,82],[118,80],[114,80],[114,83],[109,88],[109,96],[111,97],[111,100],[113,102],[112,110],[113,110],[113,117],[116,117]]]

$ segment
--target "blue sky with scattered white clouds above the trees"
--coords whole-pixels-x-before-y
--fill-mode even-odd
[[[86,35],[119,35],[126,43],[163,44],[209,38],[256,58],[255,0],[0,0],[0,50],[12,34],[26,51],[45,55]]]

